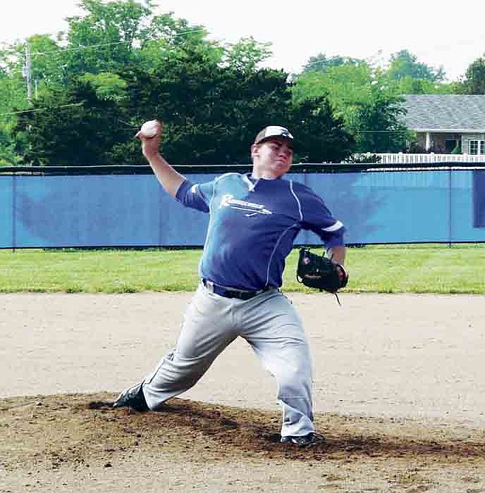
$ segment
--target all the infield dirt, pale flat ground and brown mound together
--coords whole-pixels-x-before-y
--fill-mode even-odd
[[[485,298],[290,294],[326,443],[278,443],[244,341],[160,413],[114,411],[190,294],[5,294],[0,492],[485,492]]]

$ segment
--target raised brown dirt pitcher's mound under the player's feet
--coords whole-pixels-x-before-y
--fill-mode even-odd
[[[281,417],[276,412],[172,399],[164,411],[137,413],[113,410],[115,397],[103,393],[0,399],[5,437],[0,468],[11,475],[116,468],[133,456],[153,457],[163,451],[172,462],[192,466],[237,461],[267,463],[269,468],[275,464],[284,470],[295,461],[310,467],[331,464],[331,471],[337,472],[326,468],[319,480],[324,478],[332,487],[348,482],[353,471],[375,475],[374,485],[427,491],[442,488],[443,473],[449,470],[455,471],[454,480],[468,485],[463,491],[485,491],[484,478],[479,477],[485,470],[484,430],[321,414],[315,421],[326,443],[297,449],[278,442]],[[374,486],[373,491],[381,489]]]

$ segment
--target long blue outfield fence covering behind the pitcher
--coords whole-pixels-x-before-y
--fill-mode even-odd
[[[185,173],[192,182],[217,174]],[[485,242],[485,168],[290,173],[326,201],[348,244]],[[0,175],[0,248],[202,246],[209,217],[154,175]],[[301,232],[297,244],[320,244]]]

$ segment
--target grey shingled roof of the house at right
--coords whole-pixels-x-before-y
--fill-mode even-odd
[[[417,132],[485,132],[485,95],[406,94],[403,123]]]

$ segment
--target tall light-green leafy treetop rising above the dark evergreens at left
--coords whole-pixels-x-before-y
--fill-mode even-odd
[[[71,77],[133,64],[150,72],[184,49],[205,51],[218,62],[223,56],[223,48],[206,39],[204,27],[173,13],[154,15],[152,1],[82,0],[80,6],[84,13],[68,18],[66,70]]]

